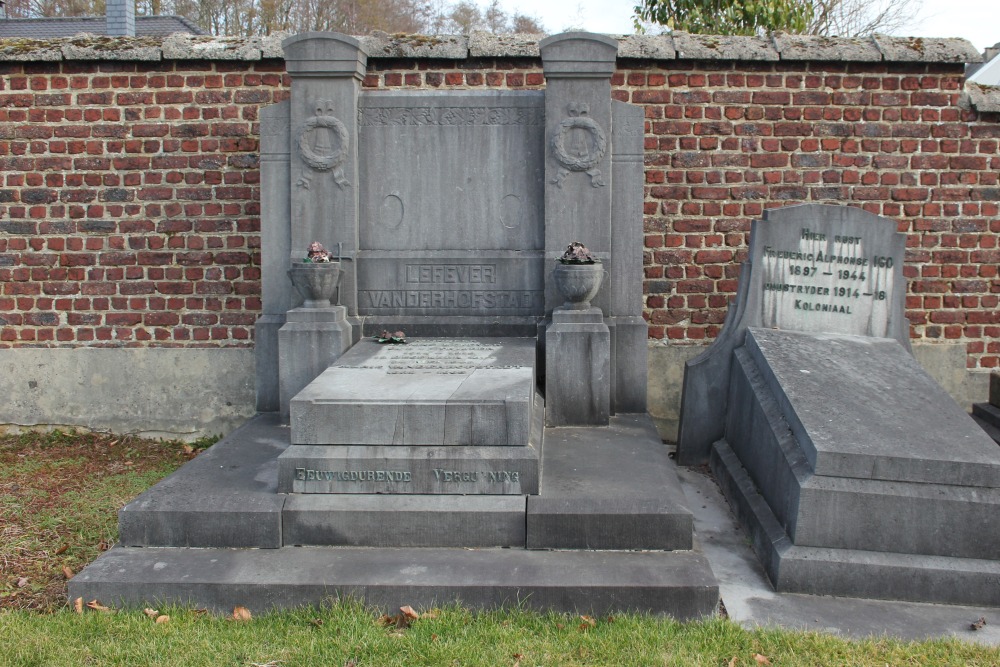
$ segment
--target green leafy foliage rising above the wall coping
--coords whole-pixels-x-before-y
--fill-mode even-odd
[[[673,30],[707,35],[803,33],[813,17],[811,0],[641,0],[635,15]]]

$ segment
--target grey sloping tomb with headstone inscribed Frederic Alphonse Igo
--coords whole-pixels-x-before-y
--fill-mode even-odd
[[[750,243],[679,459],[710,459],[779,591],[1000,604],[1000,449],[910,353],[896,223],[792,206]]]

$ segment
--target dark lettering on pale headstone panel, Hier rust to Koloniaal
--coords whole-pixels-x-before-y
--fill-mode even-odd
[[[893,265],[862,236],[803,225],[797,243],[763,248],[763,326],[855,333],[860,323],[885,331]]]

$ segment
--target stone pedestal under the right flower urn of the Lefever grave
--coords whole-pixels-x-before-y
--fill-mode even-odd
[[[611,332],[600,308],[552,311],[545,369],[546,426],[608,425]]]

